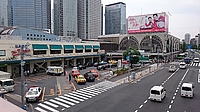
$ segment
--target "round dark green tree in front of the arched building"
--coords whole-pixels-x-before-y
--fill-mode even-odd
[[[129,48],[126,51],[124,51],[123,59],[126,60],[127,56],[130,56],[130,62],[131,62],[131,67],[132,67],[132,64],[136,64],[137,62],[139,62],[141,54],[136,49]]]

